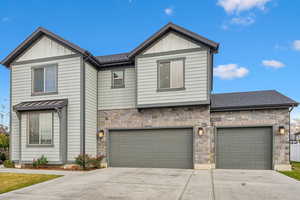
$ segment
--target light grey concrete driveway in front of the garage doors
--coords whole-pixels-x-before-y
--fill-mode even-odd
[[[67,174],[0,199],[295,200],[299,196],[300,182],[275,171],[108,168]]]

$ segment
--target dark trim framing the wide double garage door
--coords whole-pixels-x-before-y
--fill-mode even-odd
[[[193,126],[157,126],[157,127],[143,127],[143,128],[107,128],[104,130],[106,136],[106,162],[107,166],[111,167],[110,165],[110,132],[111,131],[138,131],[138,130],[159,130],[159,129],[192,129],[192,165],[194,166],[195,161],[195,127]]]

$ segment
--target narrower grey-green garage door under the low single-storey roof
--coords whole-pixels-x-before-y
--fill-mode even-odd
[[[271,127],[217,129],[216,145],[217,168],[272,168]]]

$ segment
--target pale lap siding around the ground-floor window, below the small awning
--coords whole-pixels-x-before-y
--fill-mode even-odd
[[[59,160],[59,118],[57,113],[53,115],[53,144],[54,147],[27,147],[27,117],[28,114],[22,114],[22,161],[32,161],[44,155],[48,161],[58,162]]]

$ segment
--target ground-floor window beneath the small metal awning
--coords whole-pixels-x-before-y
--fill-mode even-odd
[[[52,112],[30,112],[28,114],[28,144],[52,144]]]

